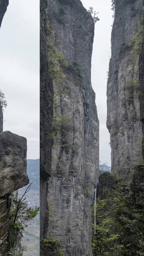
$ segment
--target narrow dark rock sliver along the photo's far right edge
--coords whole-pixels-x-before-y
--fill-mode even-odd
[[[143,6],[144,6],[144,1],[143,1]],[[143,17],[143,22],[144,22],[144,17]],[[143,131],[142,155],[144,160],[144,26],[143,26],[142,52],[139,60],[139,80],[140,80],[140,94],[139,94],[140,120],[142,122],[142,131]]]

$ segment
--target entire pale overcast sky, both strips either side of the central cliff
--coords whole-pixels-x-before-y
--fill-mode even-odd
[[[27,158],[39,158],[39,0],[10,0],[0,29],[0,89],[8,107],[4,130],[28,140]],[[107,117],[107,71],[111,55],[111,0],[82,0],[100,21],[95,25],[92,87],[100,120],[100,160],[110,166]]]

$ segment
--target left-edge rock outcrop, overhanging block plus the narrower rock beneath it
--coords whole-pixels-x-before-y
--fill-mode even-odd
[[[0,240],[6,242],[11,193],[28,184],[27,140],[6,131],[0,133]],[[0,252],[3,251],[3,246]]]

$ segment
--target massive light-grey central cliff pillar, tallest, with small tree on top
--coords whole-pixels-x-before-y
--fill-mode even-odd
[[[59,83],[54,79],[47,234],[58,239],[65,255],[80,256],[92,252],[91,206],[99,169],[99,120],[91,85],[94,23],[79,0],[49,1],[47,15],[63,70]]]

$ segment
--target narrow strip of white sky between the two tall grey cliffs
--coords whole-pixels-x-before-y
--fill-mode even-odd
[[[88,10],[90,6],[99,12],[100,21],[95,24],[92,52],[92,87],[96,93],[96,105],[100,121],[100,161],[111,166],[110,137],[106,127],[107,120],[107,71],[111,56],[111,25],[113,11],[111,0],[82,0]]]

